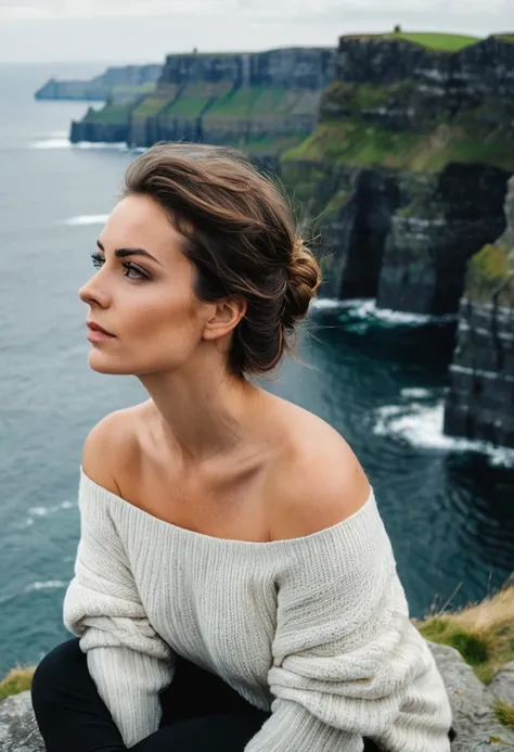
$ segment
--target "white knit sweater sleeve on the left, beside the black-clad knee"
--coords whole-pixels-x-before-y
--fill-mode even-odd
[[[80,637],[99,694],[130,748],[159,726],[158,693],[171,681],[175,654],[145,614],[108,505],[81,488],[79,508],[80,540],[64,625]]]

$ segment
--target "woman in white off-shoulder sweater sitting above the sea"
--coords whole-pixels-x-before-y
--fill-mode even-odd
[[[320,284],[284,195],[236,151],[160,143],[98,246],[90,367],[150,398],[85,442],[76,637],[33,683],[47,752],[448,752],[362,468],[252,380]]]

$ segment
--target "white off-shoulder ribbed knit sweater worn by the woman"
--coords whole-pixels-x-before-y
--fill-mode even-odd
[[[158,520],[80,466],[64,624],[130,748],[158,728],[180,654],[272,711],[245,752],[449,752],[451,709],[409,621],[373,490],[347,520],[252,543]]]

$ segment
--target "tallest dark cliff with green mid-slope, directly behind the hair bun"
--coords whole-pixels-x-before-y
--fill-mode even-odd
[[[340,38],[320,122],[280,164],[330,250],[325,294],[457,314],[468,259],[504,228],[513,93],[509,38]]]

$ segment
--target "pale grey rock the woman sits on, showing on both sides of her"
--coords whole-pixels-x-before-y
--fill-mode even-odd
[[[514,745],[514,734],[494,718],[496,697],[512,697],[514,677],[504,667],[491,686],[485,687],[453,648],[428,642],[445,680],[453,712],[452,752],[481,752],[493,744],[497,752]],[[500,692],[500,694],[498,694]],[[491,741],[494,739],[496,741]],[[34,717],[30,692],[0,703],[1,752],[44,752]]]

